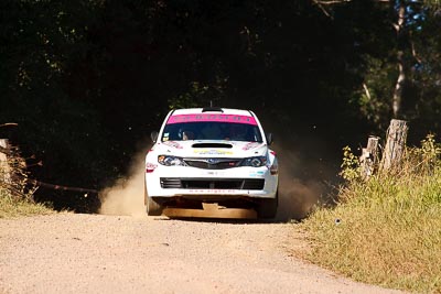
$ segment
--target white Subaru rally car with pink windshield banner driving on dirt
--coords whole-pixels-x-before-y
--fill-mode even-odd
[[[272,135],[252,111],[227,108],[172,110],[146,156],[147,214],[202,203],[255,208],[272,218],[278,206],[278,162]]]

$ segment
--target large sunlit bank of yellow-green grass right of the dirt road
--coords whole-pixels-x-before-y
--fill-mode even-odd
[[[359,282],[441,293],[440,150],[428,154],[424,142],[399,168],[349,179],[335,207],[305,219],[305,258]]]

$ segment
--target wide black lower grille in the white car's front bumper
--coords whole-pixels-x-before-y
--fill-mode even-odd
[[[179,178],[161,177],[162,188],[187,189],[262,189],[263,178]]]

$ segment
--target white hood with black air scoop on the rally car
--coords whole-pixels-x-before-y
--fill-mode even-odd
[[[268,148],[262,142],[194,140],[159,142],[154,151],[181,157],[248,157],[266,155]]]

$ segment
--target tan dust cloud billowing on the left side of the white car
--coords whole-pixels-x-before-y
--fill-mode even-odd
[[[99,193],[101,215],[147,217],[144,206],[144,153],[135,156],[129,176]]]

